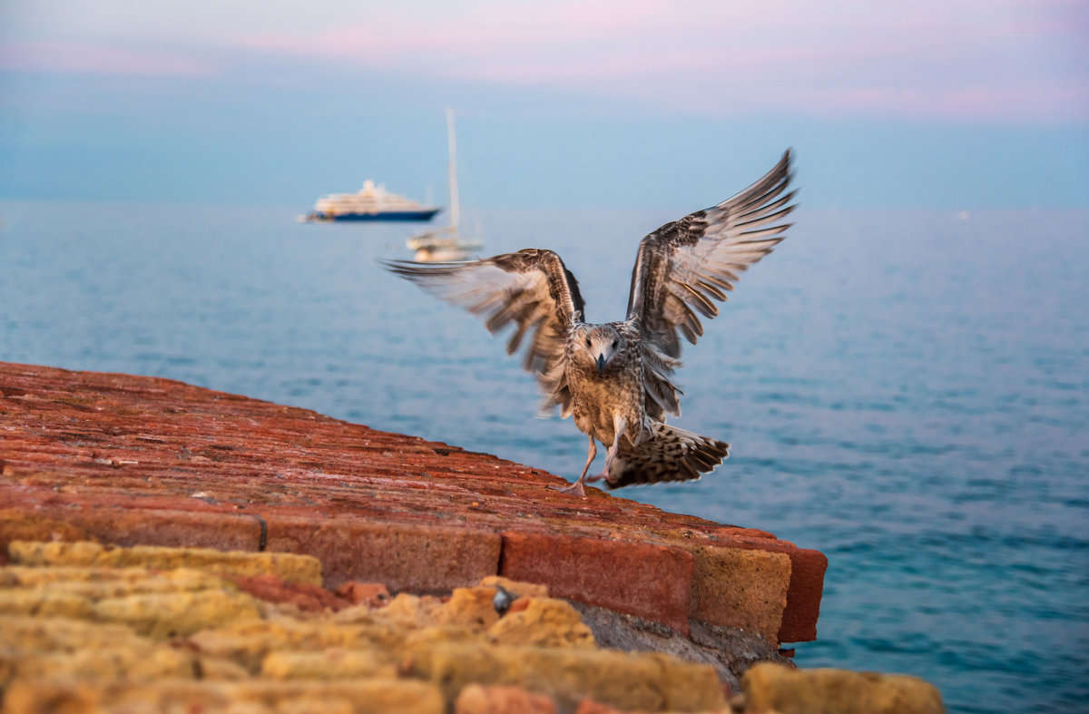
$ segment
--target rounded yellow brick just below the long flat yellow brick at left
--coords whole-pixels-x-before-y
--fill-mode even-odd
[[[228,623],[257,619],[260,612],[247,594],[228,590],[168,592],[100,600],[97,619],[124,623],[154,639],[185,637]]]

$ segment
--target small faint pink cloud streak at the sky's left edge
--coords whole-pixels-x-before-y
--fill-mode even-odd
[[[207,62],[191,57],[103,47],[84,42],[23,42],[0,46],[0,67],[49,74],[206,76]]]

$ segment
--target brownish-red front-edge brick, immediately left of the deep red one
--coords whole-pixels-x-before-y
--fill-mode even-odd
[[[467,587],[495,575],[500,545],[485,530],[268,517],[268,550],[315,556],[327,588],[348,580],[413,592]]]

